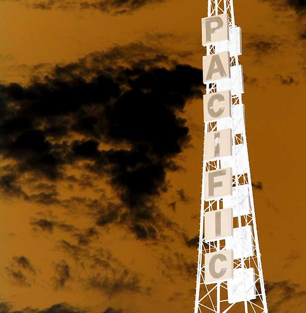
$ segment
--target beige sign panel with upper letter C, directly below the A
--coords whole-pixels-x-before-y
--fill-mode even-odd
[[[203,96],[204,122],[232,116],[232,96],[229,90]]]

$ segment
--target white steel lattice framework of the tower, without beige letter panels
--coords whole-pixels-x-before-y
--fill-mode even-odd
[[[214,312],[245,312],[245,313],[267,313],[266,295],[264,289],[263,273],[260,260],[260,251],[257,236],[257,227],[255,220],[254,202],[252,194],[251,174],[248,161],[247,143],[245,135],[245,116],[244,104],[242,102],[243,74],[242,67],[239,65],[238,55],[241,54],[239,42],[240,33],[235,25],[234,5],[233,0],[208,0],[208,17],[218,14],[227,13],[229,17],[229,30],[232,53],[230,56],[231,79],[230,85],[226,89],[231,90],[232,94],[232,119],[231,128],[233,140],[233,190],[236,189],[236,197],[233,201],[234,205],[242,206],[247,199],[249,204],[249,212],[234,217],[233,223],[235,228],[243,228],[251,226],[252,236],[252,256],[242,257],[234,260],[235,269],[254,269],[254,282],[252,288],[256,298],[253,300],[244,300],[236,303],[229,303],[228,300],[228,283],[217,282],[206,284],[204,280],[204,255],[205,253],[218,252],[226,249],[226,240],[216,240],[205,242],[204,228],[204,213],[212,210],[219,210],[225,207],[224,199],[205,201],[204,200],[204,172],[220,169],[227,164],[222,159],[214,161],[205,161],[203,155],[203,175],[202,175],[202,191],[201,191],[201,211],[200,211],[200,229],[199,229],[199,246],[198,246],[198,264],[196,278],[196,293],[194,313]],[[216,44],[206,45],[206,55],[220,52],[220,46]],[[239,82],[241,80],[241,83]],[[224,90],[224,84],[220,82],[207,83],[206,94],[216,93]],[[229,125],[227,125],[229,126]],[[204,132],[208,133],[224,129],[224,125],[219,120],[214,122],[204,123]],[[205,143],[204,143],[205,147]],[[239,186],[243,187],[238,188]],[[244,211],[243,211],[244,212]]]

